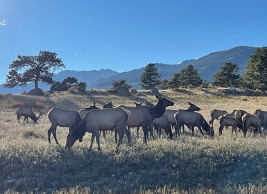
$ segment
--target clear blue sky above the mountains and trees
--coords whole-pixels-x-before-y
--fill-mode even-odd
[[[267,46],[266,0],[0,0],[0,84],[17,55],[123,72]]]

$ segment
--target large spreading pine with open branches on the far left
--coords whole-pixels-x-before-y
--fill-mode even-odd
[[[18,55],[17,60],[9,65],[4,87],[25,87],[28,82],[35,82],[35,89],[38,88],[38,82],[51,85],[54,71],[64,67],[62,60],[53,52],[40,51],[37,56]]]

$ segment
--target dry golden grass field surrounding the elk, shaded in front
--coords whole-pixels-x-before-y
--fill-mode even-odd
[[[267,109],[266,96],[218,96],[211,91],[184,89],[160,91],[173,100],[170,109],[186,109],[190,101],[201,108],[207,121],[212,109]],[[86,95],[65,92],[44,97],[0,95],[0,193],[267,193],[267,140],[242,132],[231,137],[230,129],[218,136],[214,121],[214,138],[196,136],[186,129],[173,140],[150,139],[131,130],[132,146],[123,139],[120,152],[115,152],[114,133],[101,136],[101,152],[96,142],[89,151],[90,134],[64,150],[68,129],[58,127],[60,145],[53,137],[47,141],[50,122],[46,116],[51,107],[77,110],[96,101],[102,107],[107,100],[113,105],[132,105],[133,101],[155,96],[139,91],[137,96],[116,96],[107,91],[88,91]],[[141,93],[141,94],[140,94]],[[41,121],[33,124],[17,122],[15,108],[32,107]],[[157,136],[157,134],[156,134]]]

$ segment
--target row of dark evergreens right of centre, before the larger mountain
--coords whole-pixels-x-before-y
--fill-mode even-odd
[[[155,64],[146,66],[140,77],[140,86],[143,89],[168,89],[177,87],[208,87],[209,83],[200,78],[198,70],[189,64],[169,80],[160,80]],[[267,90],[267,47],[257,48],[250,56],[243,75],[239,67],[233,62],[225,62],[217,73],[211,85],[215,87],[245,87],[248,89]]]

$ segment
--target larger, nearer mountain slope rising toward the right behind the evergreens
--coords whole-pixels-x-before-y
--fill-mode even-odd
[[[211,82],[213,80],[213,75],[225,62],[236,63],[240,69],[240,73],[243,73],[246,69],[246,64],[248,63],[250,55],[255,52],[255,49],[256,47],[251,46],[237,46],[225,51],[210,53],[209,55],[205,55],[204,57],[196,60],[185,60],[179,64],[155,63],[155,66],[161,75],[161,79],[169,79],[173,76],[173,73],[180,71],[189,64],[192,64],[193,67],[198,69],[198,73],[200,73],[201,78]],[[110,76],[109,78],[99,79],[91,85],[88,85],[88,87],[107,89],[112,86],[114,80],[124,79],[128,82],[128,84],[132,85],[136,89],[139,89],[139,78],[141,73],[144,72],[144,69],[145,67],[142,67],[140,69],[118,73],[116,76]]]

